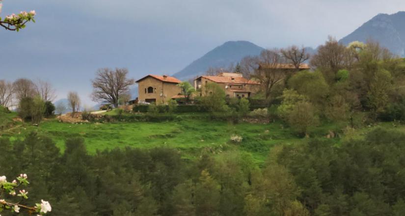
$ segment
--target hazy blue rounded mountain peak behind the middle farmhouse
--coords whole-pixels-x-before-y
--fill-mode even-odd
[[[173,76],[179,80],[189,80],[203,75],[210,67],[229,67],[247,55],[258,55],[263,48],[248,41],[228,41],[193,61]]]

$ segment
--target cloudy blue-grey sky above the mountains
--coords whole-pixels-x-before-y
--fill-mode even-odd
[[[91,105],[98,68],[130,77],[174,74],[216,46],[247,40],[264,48],[316,48],[340,39],[404,0],[3,0],[1,17],[35,10],[20,32],[0,28],[0,80],[53,83]]]

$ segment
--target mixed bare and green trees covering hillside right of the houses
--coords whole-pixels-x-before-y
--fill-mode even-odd
[[[310,62],[312,70],[300,65]],[[289,71],[283,67],[292,65]],[[309,57],[295,46],[265,50],[241,61],[241,72],[261,83],[256,97],[301,135],[325,121],[351,127],[405,120],[405,60],[378,43],[349,46],[329,38]]]

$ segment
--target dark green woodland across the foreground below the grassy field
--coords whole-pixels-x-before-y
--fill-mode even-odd
[[[339,147],[311,139],[274,147],[259,167],[244,152],[195,161],[167,148],[88,155],[81,138],[60,154],[51,139],[30,134],[0,139],[0,171],[27,173],[29,200],[49,200],[55,216],[402,216],[403,140],[384,129]]]

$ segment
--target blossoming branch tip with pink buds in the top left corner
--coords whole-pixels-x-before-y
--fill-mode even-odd
[[[2,3],[0,0],[0,13],[1,13]],[[19,14],[11,14],[9,16],[5,16],[4,19],[0,17],[0,26],[4,27],[6,30],[11,31],[19,31],[22,28],[26,27],[28,22],[34,22],[35,10],[31,10],[29,12],[22,11]]]

